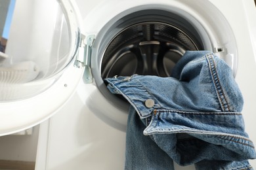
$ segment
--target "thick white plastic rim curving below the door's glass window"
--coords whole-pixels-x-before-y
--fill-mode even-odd
[[[69,67],[64,76],[40,95],[22,101],[0,103],[0,135],[16,133],[47,120],[74,93],[81,73],[83,69]]]

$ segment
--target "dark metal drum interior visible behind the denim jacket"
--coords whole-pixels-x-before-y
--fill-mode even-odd
[[[170,76],[186,50],[202,50],[190,33],[163,22],[130,25],[108,44],[102,58],[102,78],[115,75]]]

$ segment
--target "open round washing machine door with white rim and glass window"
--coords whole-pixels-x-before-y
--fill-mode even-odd
[[[7,135],[68,100],[83,76],[78,51],[86,45],[70,1],[1,1],[0,18],[0,135]]]

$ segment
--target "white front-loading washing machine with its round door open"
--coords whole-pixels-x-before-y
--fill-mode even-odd
[[[40,124],[35,169],[123,169],[129,104],[103,79],[170,76],[186,50],[230,65],[256,143],[253,0],[16,0],[13,9],[0,53],[0,134]]]

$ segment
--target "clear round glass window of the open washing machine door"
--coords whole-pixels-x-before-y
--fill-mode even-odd
[[[0,102],[44,92],[70,65],[79,33],[64,6],[53,0],[0,2]]]

